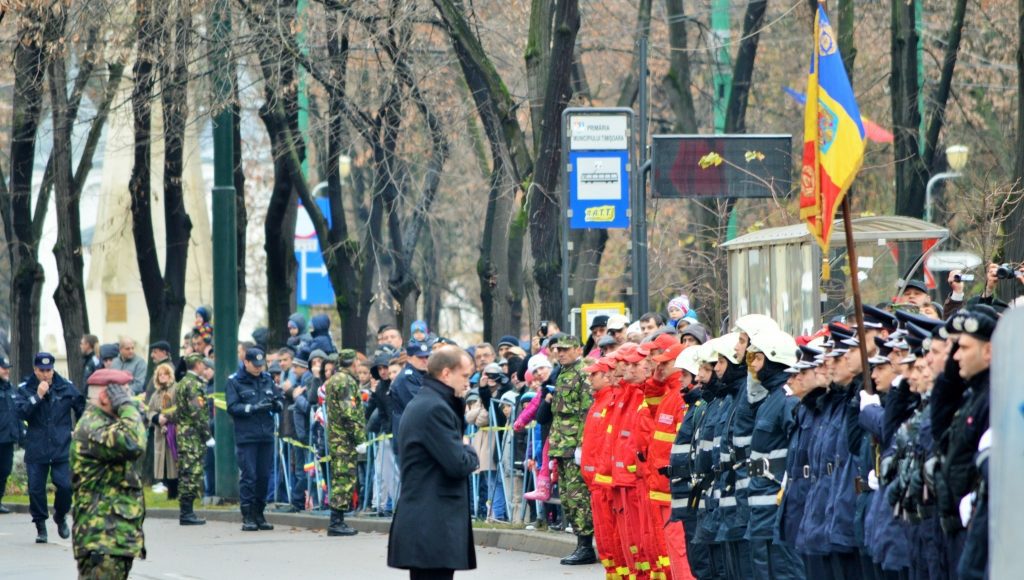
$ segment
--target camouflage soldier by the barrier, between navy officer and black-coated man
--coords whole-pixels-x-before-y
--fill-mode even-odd
[[[359,381],[352,371],[355,350],[338,354],[339,370],[324,384],[327,406],[327,443],[331,457],[331,524],[328,536],[354,536],[357,531],[345,524],[352,490],[357,480],[355,447],[364,442],[362,403]]]

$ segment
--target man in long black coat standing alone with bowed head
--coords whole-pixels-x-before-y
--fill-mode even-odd
[[[469,475],[479,466],[463,442],[465,402],[474,371],[456,346],[434,351],[423,387],[398,427],[401,491],[391,521],[387,564],[412,580],[446,579],[476,568]]]

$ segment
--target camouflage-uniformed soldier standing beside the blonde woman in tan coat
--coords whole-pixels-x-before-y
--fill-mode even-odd
[[[193,505],[203,492],[203,462],[206,442],[210,439],[210,423],[206,410],[206,381],[202,379],[206,365],[203,355],[185,357],[188,373],[178,382],[174,396],[174,418],[177,421],[178,444],[178,506],[181,526],[202,526]]]

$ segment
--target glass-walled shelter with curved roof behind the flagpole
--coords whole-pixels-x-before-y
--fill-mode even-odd
[[[864,304],[891,302],[903,280],[925,278],[922,264],[949,237],[948,230],[912,217],[860,217],[852,222]],[[746,234],[722,246],[729,259],[730,320],[768,315],[794,336],[812,334],[838,316],[852,320],[842,219],[833,225],[831,277],[825,281],[821,249],[804,222]]]

